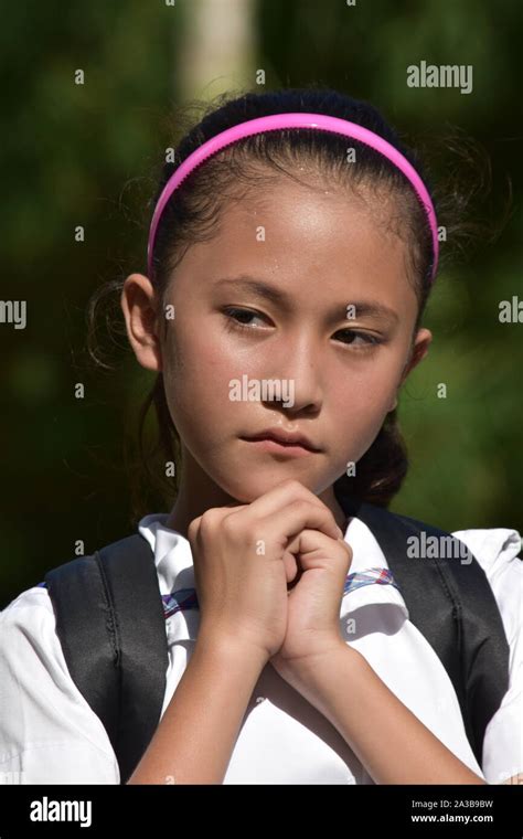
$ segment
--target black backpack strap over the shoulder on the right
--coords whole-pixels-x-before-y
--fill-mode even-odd
[[[335,485],[334,485],[335,486]],[[509,689],[510,646],[487,575],[468,552],[460,559],[413,557],[408,553],[413,535],[447,537],[467,548],[456,537],[406,516],[346,496],[337,498],[346,514],[356,516],[371,530],[393,572],[409,619],[430,644],[452,682],[465,730],[479,765],[488,723]]]

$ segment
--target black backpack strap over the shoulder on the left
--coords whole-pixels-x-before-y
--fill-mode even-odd
[[[72,679],[102,720],[126,784],[160,721],[169,663],[152,550],[141,534],[47,572]]]

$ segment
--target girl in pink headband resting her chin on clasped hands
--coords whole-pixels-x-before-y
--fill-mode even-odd
[[[479,765],[387,557],[339,500],[386,507],[406,472],[395,411],[431,341],[438,263],[418,161],[366,103],[247,94],[184,137],[154,203],[148,274],[127,277],[121,307],[181,472],[171,511],[138,525],[171,595],[169,668],[127,783],[516,780],[520,534],[457,533],[510,645]],[[1,629],[3,771],[120,783],[49,592],[23,592]]]

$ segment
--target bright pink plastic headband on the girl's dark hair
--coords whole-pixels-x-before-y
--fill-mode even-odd
[[[388,160],[391,160],[394,166],[404,173],[408,181],[410,181],[427,213],[428,223],[433,233],[434,259],[430,282],[434,282],[438,268],[438,224],[430,195],[414,167],[396,148],[394,148],[394,146],[384,140],[383,137],[374,134],[374,131],[370,131],[367,128],[363,128],[356,123],[350,123],[348,119],[340,119],[339,117],[325,116],[324,114],[302,114],[300,111],[296,114],[274,114],[268,117],[248,119],[246,123],[241,123],[232,128],[227,128],[225,131],[221,131],[221,134],[217,134],[215,137],[212,137],[200,146],[178,167],[166,183],[152,215],[147,247],[149,277],[152,276],[152,251],[158,224],[166,204],[177,187],[180,185],[193,169],[225,146],[230,146],[244,137],[250,137],[254,134],[275,131],[279,128],[316,128],[322,131],[341,134],[345,137],[351,137],[354,140],[360,140],[360,142],[364,142],[366,146],[370,146],[384,157],[388,158]]]

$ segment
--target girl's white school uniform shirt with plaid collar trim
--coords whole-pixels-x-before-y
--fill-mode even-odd
[[[151,513],[138,524],[154,555],[164,605],[169,666],[162,715],[191,658],[200,623],[190,543],[166,527],[167,519],[168,513]],[[340,628],[346,644],[460,761],[488,783],[498,784],[523,773],[522,540],[517,531],[506,528],[462,530],[453,535],[483,567],[510,646],[509,690],[487,728],[481,766],[467,740],[444,666],[410,623],[376,540],[354,517],[345,531],[353,559]],[[120,783],[106,730],[71,679],[52,603],[40,585],[22,592],[0,613],[2,780]],[[268,663],[245,711],[223,783],[374,782],[330,722]]]

